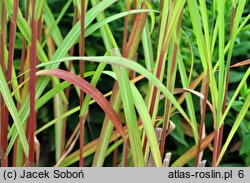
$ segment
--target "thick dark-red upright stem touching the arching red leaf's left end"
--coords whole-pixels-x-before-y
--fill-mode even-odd
[[[28,166],[34,166],[34,135],[35,135],[35,90],[36,90],[36,40],[37,40],[37,21],[35,20],[35,3],[32,0],[31,18],[31,48],[30,48],[30,119],[29,119],[29,156]]]

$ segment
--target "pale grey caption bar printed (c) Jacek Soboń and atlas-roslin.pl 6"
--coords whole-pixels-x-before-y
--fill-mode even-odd
[[[250,182],[250,168],[0,168],[0,182]]]

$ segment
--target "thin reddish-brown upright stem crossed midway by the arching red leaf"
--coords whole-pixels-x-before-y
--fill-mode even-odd
[[[80,56],[84,56],[85,52],[85,0],[81,0],[81,39],[80,39]],[[84,78],[84,61],[80,62],[80,77]],[[80,91],[80,108],[82,108],[84,93]],[[84,115],[80,115],[80,161],[79,166],[83,167],[85,162],[83,159],[84,146]]]

